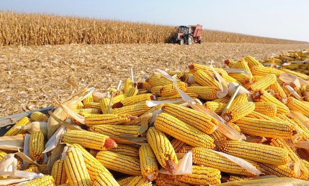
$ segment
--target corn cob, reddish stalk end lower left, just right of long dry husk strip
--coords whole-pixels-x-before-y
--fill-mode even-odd
[[[224,112],[222,118],[227,122],[235,122],[252,113],[254,109],[255,105],[253,102],[239,103],[231,106],[226,112]]]

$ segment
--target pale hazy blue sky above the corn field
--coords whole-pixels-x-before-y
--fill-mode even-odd
[[[2,10],[203,28],[309,41],[309,0],[2,0]]]

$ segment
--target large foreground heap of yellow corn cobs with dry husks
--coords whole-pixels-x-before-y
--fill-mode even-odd
[[[21,138],[23,150],[2,149],[0,184],[216,185],[263,174],[307,181],[309,76],[250,56],[225,63],[157,70],[103,94],[85,88],[49,116],[22,118],[1,137]]]

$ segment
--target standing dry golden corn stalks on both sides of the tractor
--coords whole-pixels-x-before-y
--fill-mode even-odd
[[[0,12],[0,45],[61,45],[61,44],[136,44],[168,43],[176,32],[174,26]],[[265,38],[216,30],[203,30],[204,42],[297,44],[307,43]]]

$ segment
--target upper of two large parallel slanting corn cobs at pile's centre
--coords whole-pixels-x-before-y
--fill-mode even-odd
[[[217,129],[218,122],[214,118],[193,109],[167,103],[164,104],[162,110],[163,113],[176,117],[182,122],[189,124],[207,134],[210,134]]]

